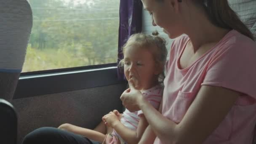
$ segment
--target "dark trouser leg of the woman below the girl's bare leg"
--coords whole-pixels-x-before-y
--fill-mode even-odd
[[[43,127],[25,136],[22,144],[101,144],[58,128]]]

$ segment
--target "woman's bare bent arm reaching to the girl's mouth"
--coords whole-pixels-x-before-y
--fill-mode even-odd
[[[135,89],[131,88],[131,91]],[[200,144],[224,120],[239,94],[226,88],[203,85],[179,124],[163,117],[142,96],[127,97],[130,97],[129,101],[133,99],[133,102],[137,102],[152,130],[163,143]],[[127,98],[125,95],[124,97]],[[128,105],[125,101],[123,103]]]

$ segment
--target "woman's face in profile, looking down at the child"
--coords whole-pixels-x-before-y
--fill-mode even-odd
[[[178,37],[181,31],[181,16],[179,14],[179,6],[177,0],[141,0],[144,10],[149,11],[152,16],[152,25],[160,26],[170,38]]]

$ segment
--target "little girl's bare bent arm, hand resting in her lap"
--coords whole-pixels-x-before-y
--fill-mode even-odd
[[[114,114],[115,115],[115,114]],[[107,118],[107,117],[105,117]],[[107,121],[107,120],[106,120]],[[109,124],[109,122],[107,122]],[[125,127],[119,120],[110,122],[110,126],[121,136],[128,144],[137,144],[141,139],[142,134],[148,126],[146,118],[142,115],[139,120],[139,125],[136,131]]]

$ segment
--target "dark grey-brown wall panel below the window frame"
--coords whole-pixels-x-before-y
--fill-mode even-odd
[[[120,95],[125,88],[124,83],[13,99],[19,117],[18,144],[29,132],[44,126],[58,127],[63,123],[71,123],[94,128],[109,111],[122,111]]]

